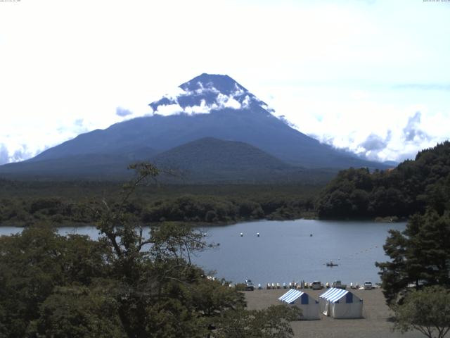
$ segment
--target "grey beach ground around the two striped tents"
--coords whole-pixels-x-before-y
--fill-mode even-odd
[[[303,289],[314,299],[319,299],[319,295],[326,289],[314,291]],[[391,312],[385,304],[385,298],[381,289],[371,290],[349,290],[364,301],[363,316],[360,319],[333,319],[321,315],[321,320],[300,320],[293,322],[292,327],[295,337],[303,338],[379,338],[379,337],[402,337],[418,338],[423,334],[417,331],[401,334],[392,332],[392,323],[389,321]],[[248,309],[263,309],[271,305],[280,304],[278,297],[288,292],[288,289],[262,289],[245,292],[245,299],[248,302]]]

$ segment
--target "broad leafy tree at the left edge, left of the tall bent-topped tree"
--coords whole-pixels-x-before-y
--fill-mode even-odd
[[[56,287],[107,275],[108,256],[98,242],[60,236],[45,224],[0,237],[0,332],[4,327],[4,337],[25,337]]]

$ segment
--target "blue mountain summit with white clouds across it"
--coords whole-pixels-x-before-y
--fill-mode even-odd
[[[229,75],[203,73],[181,84],[174,94],[166,94],[149,106],[156,115],[205,114],[225,108],[248,110],[259,106],[272,113],[263,101]]]

